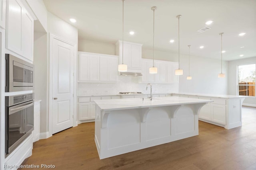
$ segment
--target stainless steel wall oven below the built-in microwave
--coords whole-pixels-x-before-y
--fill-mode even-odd
[[[5,97],[5,155],[34,130],[34,93]]]

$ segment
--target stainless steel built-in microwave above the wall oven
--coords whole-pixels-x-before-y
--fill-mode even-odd
[[[34,65],[10,54],[5,54],[5,60],[5,92],[34,90]]]

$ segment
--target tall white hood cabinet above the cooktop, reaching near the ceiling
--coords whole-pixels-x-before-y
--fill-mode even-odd
[[[122,41],[116,43],[116,55],[119,55],[119,64],[122,63]],[[124,64],[127,64],[128,72],[141,72],[142,44],[124,41]]]

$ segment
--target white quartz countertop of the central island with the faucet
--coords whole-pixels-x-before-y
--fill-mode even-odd
[[[176,96],[170,97],[155,97],[153,100],[148,98],[128,98],[128,99],[107,99],[107,100],[94,100],[102,111],[123,110],[123,109],[136,109],[146,107],[160,107],[160,106],[174,106],[183,104],[200,104],[209,103],[213,100],[203,100],[195,98],[182,98]]]

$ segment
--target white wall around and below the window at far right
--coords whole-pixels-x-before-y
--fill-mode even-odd
[[[248,58],[248,59],[240,59],[228,62],[228,72],[229,72],[229,79],[228,79],[228,93],[232,95],[237,94],[237,66],[244,65],[244,64],[256,64],[256,57]],[[255,106],[256,107],[256,97],[248,97],[244,100],[243,104],[248,106]]]

